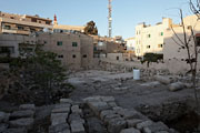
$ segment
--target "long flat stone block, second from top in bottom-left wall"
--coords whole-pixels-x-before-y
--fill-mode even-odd
[[[21,119],[21,117],[33,117],[34,111],[32,110],[23,110],[23,111],[14,111],[10,114],[10,119]]]

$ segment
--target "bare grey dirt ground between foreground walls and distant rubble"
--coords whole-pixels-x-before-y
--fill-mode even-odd
[[[80,101],[91,95],[112,95],[120,106],[126,109],[141,105],[160,105],[164,102],[193,99],[192,89],[170,92],[168,85],[150,81],[133,80],[132,72],[116,73],[108,71],[82,71],[69,76],[69,82],[76,86],[71,99]],[[199,93],[199,92],[198,92]]]

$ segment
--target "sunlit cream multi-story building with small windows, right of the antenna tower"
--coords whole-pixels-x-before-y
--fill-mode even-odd
[[[156,25],[147,25],[144,22],[136,27],[136,55],[143,57],[146,53],[163,53],[164,31],[172,25],[172,20],[163,18]]]

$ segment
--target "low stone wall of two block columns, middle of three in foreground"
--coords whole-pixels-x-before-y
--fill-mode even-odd
[[[61,99],[51,112],[49,133],[84,133],[82,110],[70,99]]]

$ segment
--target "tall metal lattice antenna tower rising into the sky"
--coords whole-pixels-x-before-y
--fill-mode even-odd
[[[109,38],[112,37],[112,0],[108,0],[109,1],[109,6],[108,6],[108,9],[109,9],[109,16],[108,16],[108,23],[109,23],[109,27],[108,27],[108,35]]]

